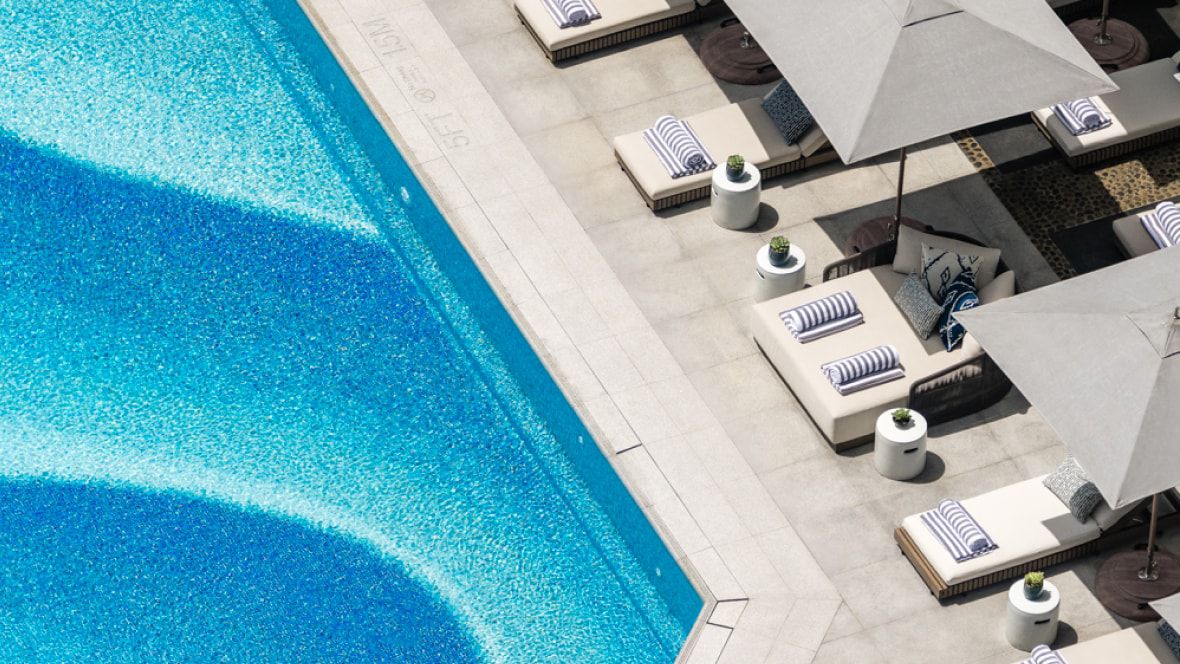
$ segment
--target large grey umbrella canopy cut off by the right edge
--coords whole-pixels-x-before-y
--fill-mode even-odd
[[[956,317],[1122,507],[1180,484],[1180,249]]]

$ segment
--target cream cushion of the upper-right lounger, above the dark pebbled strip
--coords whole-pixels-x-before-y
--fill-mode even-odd
[[[1134,140],[1180,125],[1180,81],[1173,78],[1175,73],[1175,63],[1163,58],[1110,74],[1119,90],[1095,97],[1094,105],[1112,123],[1095,132],[1069,133],[1053,109],[1041,109],[1034,114],[1054,143],[1071,157]]]

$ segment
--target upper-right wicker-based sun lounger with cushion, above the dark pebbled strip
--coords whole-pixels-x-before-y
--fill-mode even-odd
[[[1032,120],[1073,167],[1129,155],[1180,138],[1180,81],[1176,64],[1162,58],[1110,74],[1119,90],[1095,97],[1110,126],[1074,136],[1051,109],[1032,112]]]

